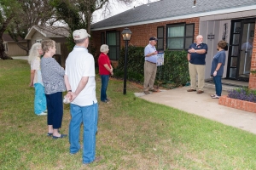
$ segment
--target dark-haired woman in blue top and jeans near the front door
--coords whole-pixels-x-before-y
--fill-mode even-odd
[[[221,77],[224,72],[224,65],[226,60],[226,54],[224,48],[227,46],[227,42],[221,40],[217,44],[218,53],[214,55],[212,59],[211,76],[215,84],[216,94],[212,94],[212,99],[218,99],[222,92]]]

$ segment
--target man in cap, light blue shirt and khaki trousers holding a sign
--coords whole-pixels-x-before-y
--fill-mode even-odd
[[[152,92],[158,92],[157,89],[154,89],[154,79],[156,75],[156,57],[158,52],[155,49],[155,44],[157,42],[156,37],[150,37],[148,45],[144,48],[144,93],[150,94],[148,88]]]

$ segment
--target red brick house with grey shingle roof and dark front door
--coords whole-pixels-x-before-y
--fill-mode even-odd
[[[229,43],[224,77],[249,81],[249,88],[256,88],[256,77],[250,74],[256,70],[255,20],[256,0],[161,0],[99,21],[91,26],[91,34],[97,52],[108,44],[113,62],[125,46],[125,27],[132,31],[130,45],[145,47],[149,37],[157,37],[158,50],[187,50],[201,34],[208,45],[206,80],[217,43],[224,39]]]

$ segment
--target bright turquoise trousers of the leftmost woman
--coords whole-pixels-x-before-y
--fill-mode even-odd
[[[46,111],[46,98],[44,94],[44,86],[40,83],[35,83],[35,99],[34,99],[34,111],[38,115]]]

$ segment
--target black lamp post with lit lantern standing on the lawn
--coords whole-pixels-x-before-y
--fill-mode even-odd
[[[126,73],[127,73],[127,52],[128,52],[128,41],[131,39],[131,30],[125,28],[122,31],[123,40],[125,41],[125,76],[124,76],[124,94],[126,94]]]

